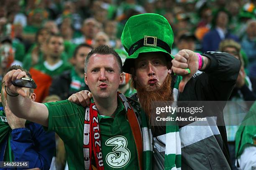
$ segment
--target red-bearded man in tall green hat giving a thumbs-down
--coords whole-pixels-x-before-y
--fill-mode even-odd
[[[121,41],[129,55],[123,71],[132,74],[132,84],[138,93],[131,98],[140,102],[149,120],[154,118],[150,112],[152,102],[226,101],[236,83],[239,60],[228,53],[200,55],[191,50],[171,56],[173,39],[168,21],[157,14],[133,16],[123,30]],[[196,73],[197,70],[202,72]],[[81,103],[85,100],[82,95],[86,94],[80,92],[77,98],[70,98]],[[152,128],[154,169],[166,168],[168,158],[173,163],[169,169],[230,169],[225,126],[217,126],[225,125],[223,116],[217,117],[223,115],[224,106],[214,107],[210,110],[212,116],[207,117],[207,122],[214,126],[200,126],[195,121],[179,129]]]

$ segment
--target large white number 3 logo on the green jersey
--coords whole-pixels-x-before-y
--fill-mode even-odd
[[[114,136],[105,143],[107,146],[115,146],[112,153],[106,156],[106,162],[112,168],[122,168],[129,162],[131,152],[127,147],[127,139],[124,136]]]

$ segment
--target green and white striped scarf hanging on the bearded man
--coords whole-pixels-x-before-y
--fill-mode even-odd
[[[177,76],[177,81],[174,83],[174,100],[177,100],[178,86],[182,77]],[[133,103],[129,99],[130,103]],[[131,104],[132,107],[134,106]],[[141,132],[143,138],[143,169],[151,170],[153,162],[153,136],[151,133],[151,126],[148,124],[148,118],[143,110],[140,111],[138,122],[141,125]],[[179,137],[179,126],[176,122],[166,123],[166,146],[164,169],[165,170],[181,170],[181,141]]]

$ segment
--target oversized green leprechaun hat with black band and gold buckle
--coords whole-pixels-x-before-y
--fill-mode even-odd
[[[127,21],[121,36],[121,42],[128,52],[123,72],[131,74],[134,59],[143,52],[164,52],[167,60],[172,60],[172,27],[158,14],[135,15]]]

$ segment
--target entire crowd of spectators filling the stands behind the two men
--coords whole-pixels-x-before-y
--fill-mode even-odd
[[[237,57],[242,65],[230,100],[255,100],[250,95],[256,93],[255,0],[1,0],[0,79],[10,65],[29,70],[38,86],[37,102],[64,100],[89,90],[84,57],[105,44],[124,62],[124,25],[142,13],[157,13],[169,21],[174,32],[172,55],[189,49]],[[126,74],[120,86],[126,96],[134,92],[130,77]],[[237,129],[227,129],[233,152]],[[64,167],[63,143],[58,144],[57,162]]]

